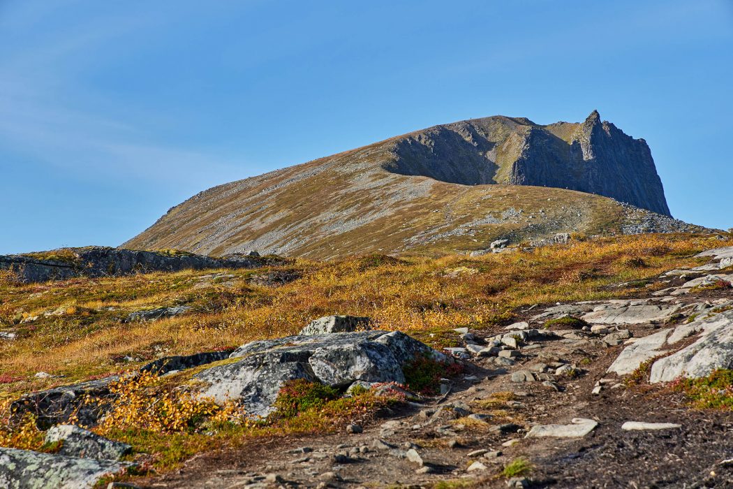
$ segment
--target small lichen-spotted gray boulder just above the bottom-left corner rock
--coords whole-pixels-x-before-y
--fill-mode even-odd
[[[128,444],[109,440],[74,424],[57,424],[51,427],[46,432],[45,442],[60,442],[61,446],[56,452],[58,455],[99,460],[119,460],[132,450]]]

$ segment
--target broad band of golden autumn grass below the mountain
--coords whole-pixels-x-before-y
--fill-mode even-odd
[[[298,260],[302,278],[281,287],[249,284],[254,271],[182,271],[72,279],[45,284],[0,281],[0,397],[135,367],[162,355],[189,354],[297,333],[331,314],[369,316],[377,327],[408,331],[435,345],[457,326],[491,328],[520,306],[611,298],[638,281],[704,260],[693,254],[733,244],[700,235],[639,235],[575,242],[512,254],[452,255],[336,262]],[[644,267],[631,259],[643,258]],[[471,273],[453,273],[469,269]],[[222,283],[214,273],[233,275]],[[207,278],[208,277],[208,278]],[[130,312],[186,304],[191,314],[122,323]],[[62,309],[62,314],[45,312]],[[37,316],[33,322],[19,320]],[[27,320],[27,319],[26,319]],[[438,333],[430,337],[429,333]],[[139,361],[125,362],[130,356]],[[45,371],[65,378],[37,380]],[[25,380],[12,380],[23,378]],[[11,381],[12,380],[12,381]],[[1,380],[0,380],[1,382]]]

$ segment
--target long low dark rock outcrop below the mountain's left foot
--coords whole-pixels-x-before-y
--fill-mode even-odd
[[[244,254],[213,258],[178,251],[140,251],[104,246],[0,256],[0,270],[10,270],[22,282],[65,280],[78,276],[119,276],[154,271],[258,268],[282,263],[283,260],[273,257]]]

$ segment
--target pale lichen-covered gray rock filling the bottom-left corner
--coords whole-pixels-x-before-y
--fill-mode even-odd
[[[0,447],[0,488],[86,489],[132,464]]]

